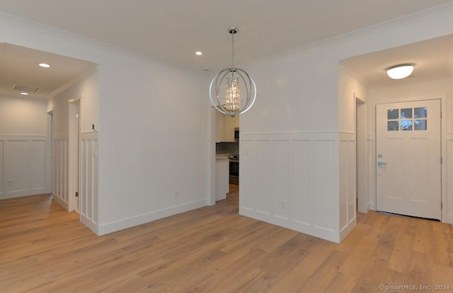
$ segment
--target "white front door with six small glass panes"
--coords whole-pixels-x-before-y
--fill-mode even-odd
[[[377,210],[441,217],[440,100],[377,105]]]

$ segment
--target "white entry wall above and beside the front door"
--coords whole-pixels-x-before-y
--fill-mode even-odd
[[[375,111],[375,105],[381,103],[394,103],[410,100],[441,99],[442,103],[442,222],[451,222],[453,215],[453,174],[452,156],[452,125],[449,117],[453,115],[451,103],[452,77],[451,76],[430,76],[418,79],[404,79],[392,81],[387,84],[370,86],[369,101],[373,105],[370,112]],[[369,113],[369,123],[374,125],[375,118]],[[373,133],[373,136],[375,134]],[[370,157],[375,158],[375,152]],[[375,180],[372,177],[371,180]],[[376,209],[376,193],[370,198],[372,209]]]

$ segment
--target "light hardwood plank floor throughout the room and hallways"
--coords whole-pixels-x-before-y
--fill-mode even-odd
[[[214,207],[100,237],[49,195],[0,200],[0,292],[453,287],[448,224],[369,212],[359,214],[357,227],[336,244],[239,216],[233,188]],[[384,292],[406,291],[386,287]]]

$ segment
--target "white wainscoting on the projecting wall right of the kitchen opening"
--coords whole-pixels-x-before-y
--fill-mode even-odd
[[[354,137],[336,132],[242,133],[239,212],[339,242],[355,226],[355,212],[348,210],[348,200],[355,198]],[[341,178],[340,158],[346,166]],[[339,186],[344,197],[341,227]]]

